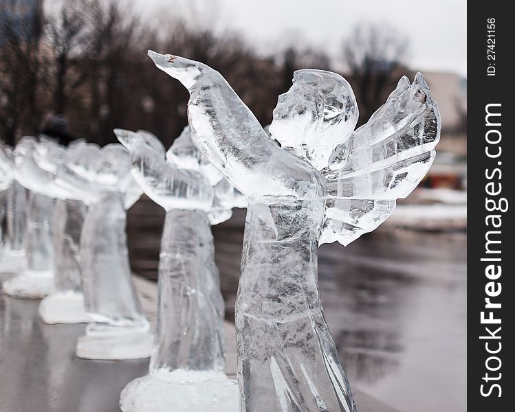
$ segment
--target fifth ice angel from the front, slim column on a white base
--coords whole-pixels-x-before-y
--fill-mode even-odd
[[[38,186],[31,178],[34,163],[32,152],[36,141],[24,137],[13,152],[14,177],[30,190],[25,232],[26,267],[18,275],[3,283],[3,290],[13,297],[41,299],[54,286],[52,247],[52,210],[54,199],[43,191],[32,191]],[[37,179],[39,175],[36,174]],[[36,180],[37,180],[36,179]]]

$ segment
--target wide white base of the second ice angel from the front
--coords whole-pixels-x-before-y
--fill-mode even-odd
[[[238,412],[239,389],[223,372],[158,371],[129,382],[123,412]]]

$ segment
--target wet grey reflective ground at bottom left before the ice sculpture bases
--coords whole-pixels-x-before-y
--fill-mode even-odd
[[[45,325],[39,302],[0,295],[0,411],[120,412],[118,393],[149,361],[76,358],[85,325]]]

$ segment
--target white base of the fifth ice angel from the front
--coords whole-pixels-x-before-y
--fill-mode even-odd
[[[3,292],[21,299],[43,299],[54,290],[54,276],[51,271],[25,270],[2,285]]]

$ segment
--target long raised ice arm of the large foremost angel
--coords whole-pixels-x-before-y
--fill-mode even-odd
[[[320,176],[281,150],[220,73],[193,60],[149,51],[155,65],[190,92],[191,138],[245,196],[314,196]]]

